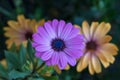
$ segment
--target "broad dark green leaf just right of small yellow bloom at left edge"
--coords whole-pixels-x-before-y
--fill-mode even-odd
[[[5,57],[6,57],[6,60],[10,63],[10,65],[12,65],[14,68],[16,69],[20,68],[18,55],[16,53],[5,51]]]

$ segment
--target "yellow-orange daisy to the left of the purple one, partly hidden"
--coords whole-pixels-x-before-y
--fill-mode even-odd
[[[13,43],[16,46],[19,46],[21,43],[26,46],[27,40],[32,38],[36,28],[44,24],[44,20],[37,22],[34,19],[26,19],[23,15],[19,15],[17,20],[8,21],[8,27],[4,27],[4,35],[8,37],[8,40],[6,40],[7,48],[10,48]]]

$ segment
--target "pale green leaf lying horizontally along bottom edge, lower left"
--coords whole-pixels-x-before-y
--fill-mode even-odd
[[[10,79],[25,78],[28,75],[30,75],[30,72],[19,72],[19,71],[16,71],[16,70],[12,70],[9,73],[9,78]]]

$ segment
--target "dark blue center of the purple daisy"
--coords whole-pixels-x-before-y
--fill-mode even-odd
[[[52,49],[54,49],[55,51],[62,51],[65,48],[65,43],[61,39],[54,39],[52,41],[51,46],[52,46]]]

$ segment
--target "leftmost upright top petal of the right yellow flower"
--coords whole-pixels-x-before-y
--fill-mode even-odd
[[[87,40],[90,40],[90,27],[87,21],[82,23],[82,31]]]

